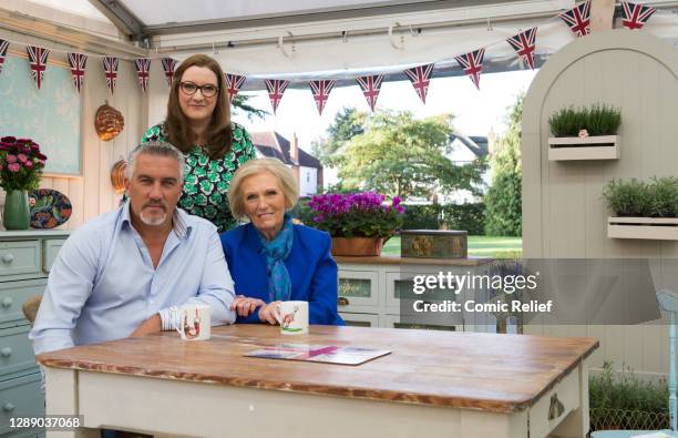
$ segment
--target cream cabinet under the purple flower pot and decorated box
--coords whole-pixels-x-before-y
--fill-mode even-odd
[[[339,265],[339,313],[347,325],[388,328],[494,332],[496,323],[487,315],[464,315],[463,312],[427,313],[413,309],[417,301],[430,304],[462,304],[483,291],[458,291],[455,281],[444,287],[413,292],[414,278],[428,275],[481,275],[491,258],[430,259],[396,256],[335,257]],[[482,296],[477,297],[483,299]]]

